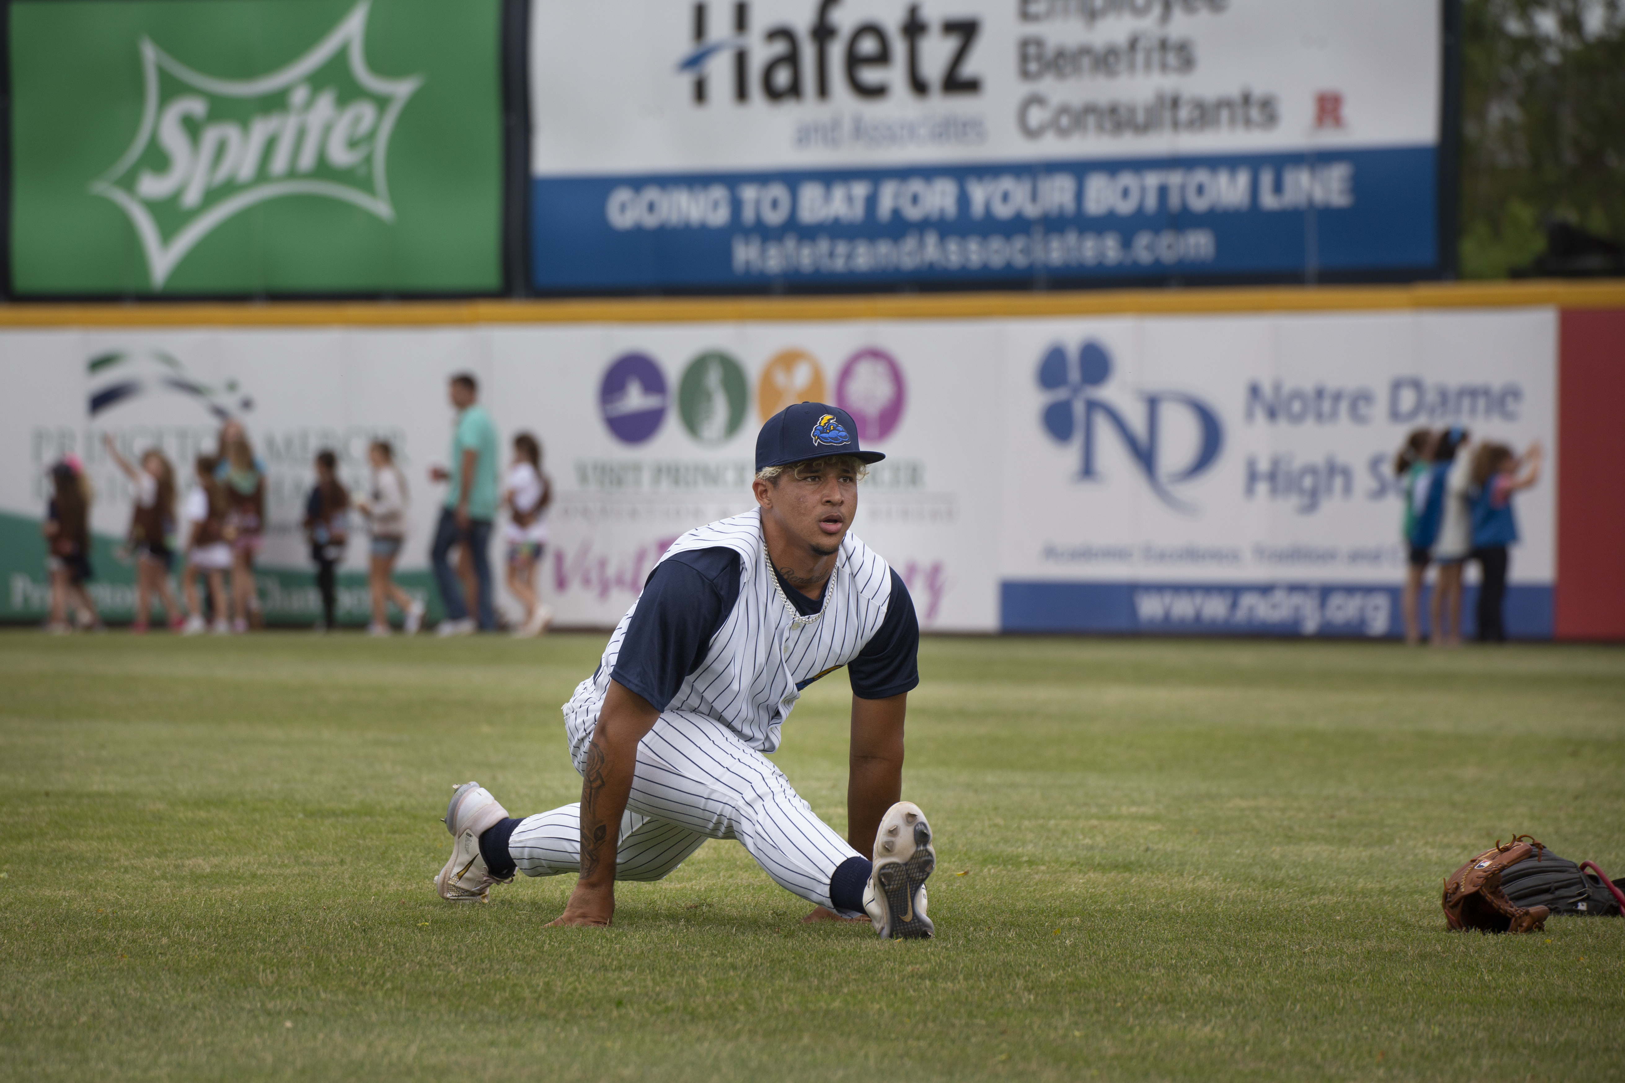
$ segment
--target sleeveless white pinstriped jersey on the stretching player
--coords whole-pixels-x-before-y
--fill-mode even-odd
[[[775,752],[780,726],[801,688],[856,658],[886,620],[890,568],[848,533],[824,589],[822,609],[803,617],[767,563],[756,510],[689,531],[671,544],[661,562],[679,552],[715,547],[739,554],[739,598],[712,636],[699,669],[684,679],[666,710],[713,718],[748,747]],[[592,739],[634,612],[637,602],[609,636],[598,672],[564,705],[570,752],[577,758]]]

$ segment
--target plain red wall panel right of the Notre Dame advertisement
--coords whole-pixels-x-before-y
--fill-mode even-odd
[[[1560,640],[1625,640],[1625,309],[1565,310],[1557,369]]]

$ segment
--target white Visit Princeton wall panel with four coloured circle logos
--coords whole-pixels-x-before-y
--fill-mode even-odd
[[[863,447],[887,455],[860,489],[853,529],[908,583],[921,623],[998,627],[998,539],[977,507],[998,461],[951,419],[967,399],[996,396],[999,380],[994,367],[973,362],[962,325],[488,334],[492,409],[504,425],[536,419],[559,485],[546,586],[561,620],[613,625],[678,534],[754,507],[760,422],[811,399],[845,408]]]

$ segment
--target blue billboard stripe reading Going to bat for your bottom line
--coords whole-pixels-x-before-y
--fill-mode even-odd
[[[1433,148],[538,177],[538,289],[1428,270]]]

